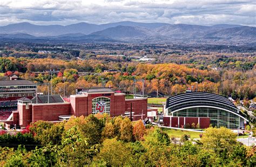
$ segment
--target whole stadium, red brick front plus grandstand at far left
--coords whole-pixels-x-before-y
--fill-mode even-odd
[[[147,98],[126,99],[125,93],[110,88],[90,88],[76,95],[36,95],[37,85],[26,80],[0,81],[0,122],[5,128],[25,128],[39,120],[59,122],[71,115],[80,117],[107,113],[131,120],[147,118]]]

